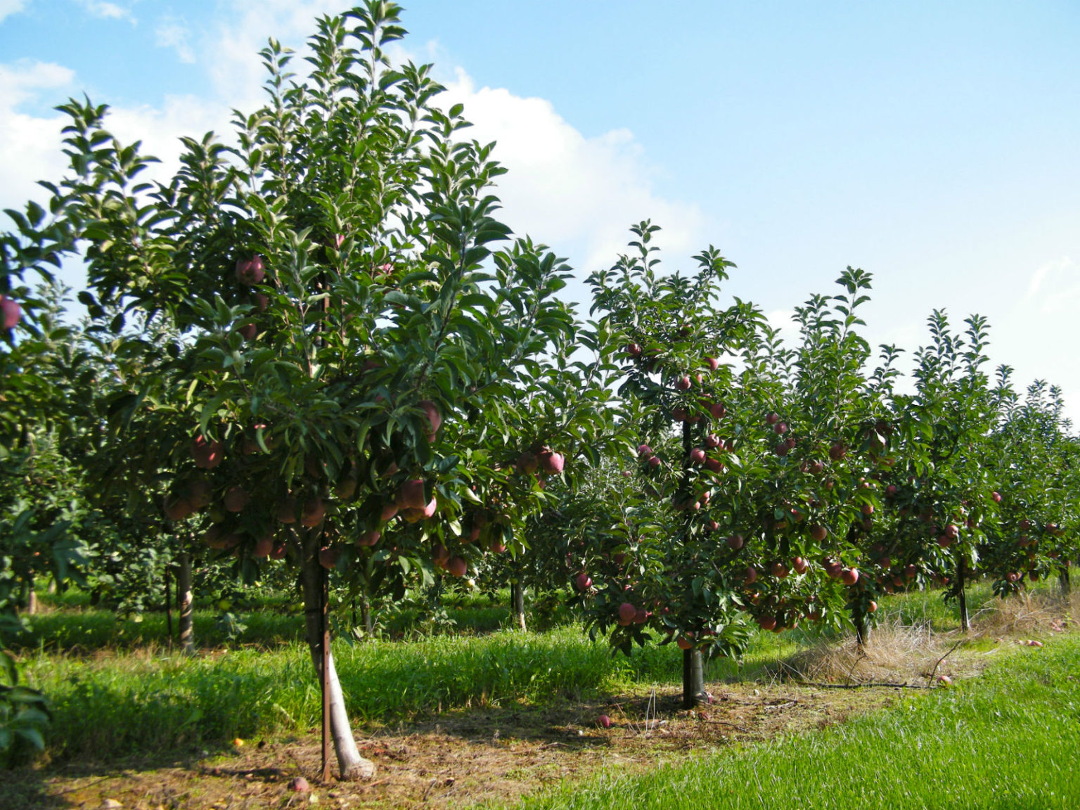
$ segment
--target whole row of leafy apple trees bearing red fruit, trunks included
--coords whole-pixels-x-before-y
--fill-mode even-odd
[[[334,594],[367,617],[443,582],[562,589],[615,648],[671,646],[693,706],[703,662],[758,631],[866,645],[883,594],[941,588],[967,627],[978,579],[1067,589],[1080,444],[1056,389],[993,368],[982,318],[934,311],[914,355],[874,348],[872,276],[847,268],[787,343],[716,248],[665,272],[649,221],[589,276],[585,316],[559,297],[571,269],[497,218],[497,148],[440,108],[430,66],[389,60],[399,12],[320,19],[306,76],[271,40],[267,105],[185,139],[167,184],[140,180],[152,159],[106,107],[59,108],[70,168],[0,234],[9,617],[36,577],[171,572],[193,648],[193,567],[285,576],[340,774],[369,778]],[[107,530],[24,491],[46,445]]]

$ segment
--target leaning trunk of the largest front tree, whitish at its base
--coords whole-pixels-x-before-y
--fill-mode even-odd
[[[322,566],[319,565],[319,531],[306,532],[303,538],[303,555],[300,561],[300,586],[303,592],[303,618],[307,631],[308,649],[311,662],[320,680],[323,676],[323,616]],[[328,637],[328,633],[326,636]],[[345,708],[345,696],[341,692],[341,681],[338,680],[334,667],[334,656],[327,649],[326,691],[329,698],[330,734],[334,738],[334,753],[337,755],[341,780],[370,779],[375,775],[375,762],[364,759],[356,747],[349,725],[349,715]]]

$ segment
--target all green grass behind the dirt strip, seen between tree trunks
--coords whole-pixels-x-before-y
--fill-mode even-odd
[[[988,598],[982,591],[973,589],[972,604]],[[450,606],[447,612],[461,620],[464,635],[364,643],[339,636],[335,658],[350,716],[386,723],[450,708],[581,700],[679,683],[680,653],[674,647],[638,648],[625,658],[612,654],[603,640],[590,642],[575,624],[545,633],[478,633],[476,627],[498,610],[486,602]],[[264,611],[241,619],[247,631],[235,645],[187,658],[162,645],[161,616],[119,621],[105,611],[69,608],[37,617],[37,647],[25,657],[26,673],[54,708],[52,759],[213,748],[237,737],[312,728],[319,692],[298,638],[299,618]],[[957,621],[939,594],[908,594],[886,603],[882,623],[942,633]],[[197,615],[197,635],[220,642],[214,632],[214,615]],[[779,662],[831,640],[831,634],[813,630],[761,633],[741,664],[713,661],[706,676],[710,681],[773,677]]]

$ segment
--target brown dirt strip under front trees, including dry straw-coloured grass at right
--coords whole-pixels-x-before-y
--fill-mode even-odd
[[[962,645],[956,634],[928,638],[921,629],[896,625],[875,631],[865,654],[851,643],[808,649],[767,666],[754,680],[711,684],[712,703],[693,711],[683,710],[678,688],[667,686],[594,702],[510,704],[361,727],[361,752],[378,769],[370,782],[322,784],[320,738],[311,729],[298,738],[238,741],[224,752],[178,753],[170,761],[0,771],[0,810],[460,808],[513,801],[564,779],[657,767],[732,743],[843,723],[901,696],[941,688],[942,675],[976,677],[1009,649],[1035,644],[1032,631],[1055,635],[1078,625],[1076,606],[1064,617],[1056,606],[1022,608],[999,611]],[[610,728],[600,726],[602,715],[610,717]],[[310,792],[292,789],[297,777],[308,780]]]

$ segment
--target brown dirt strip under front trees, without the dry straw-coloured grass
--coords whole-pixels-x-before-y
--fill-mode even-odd
[[[842,723],[905,691],[783,684],[711,688],[713,703],[690,712],[679,708],[679,693],[671,687],[592,704],[515,705],[362,729],[361,753],[378,768],[368,783],[321,784],[319,734],[312,730],[300,739],[245,741],[232,752],[191,761],[23,769],[0,775],[0,808],[464,807],[512,800],[602,769],[636,770],[735,741]],[[598,723],[604,714],[610,728]],[[291,789],[299,775],[309,781],[309,794]]]

